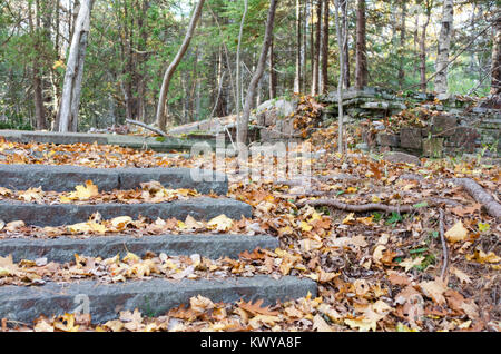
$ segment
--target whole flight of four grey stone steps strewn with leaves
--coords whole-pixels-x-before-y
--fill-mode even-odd
[[[76,185],[92,180],[99,190],[134,189],[141,183],[158,180],[166,188],[189,188],[199,194],[213,193],[217,198],[202,196],[169,203],[138,204],[35,204],[17,200],[0,203],[0,219],[23,220],[27,225],[61,226],[87,222],[99,212],[104,218],[139,215],[151,219],[170,218],[184,220],[190,215],[208,220],[220,214],[233,219],[252,217],[252,207],[245,203],[224,197],[227,193],[226,176],[214,174],[214,181],[194,181],[189,169],[177,168],[116,168],[92,169],[75,166],[0,165],[0,187],[21,189],[42,187],[43,190],[69,191]],[[117,254],[134,253],[139,257],[148,252],[167,256],[194,255],[217,259],[238,258],[245,250],[275,249],[278,240],[267,235],[160,235],[160,236],[59,236],[56,238],[0,238],[0,256],[22,259],[68,263],[75,255],[110,258]],[[218,278],[163,277],[127,279],[121,283],[104,283],[77,279],[57,283],[43,279],[42,285],[0,285],[0,318],[30,324],[40,315],[63,315],[73,312],[81,299],[88,305],[94,323],[118,317],[120,311],[138,308],[148,316],[164,315],[169,308],[189,303],[191,296],[202,295],[213,302],[264,299],[265,305],[287,301],[311,293],[316,296],[316,283],[310,278],[266,275],[230,276]],[[1,283],[0,283],[1,284]]]

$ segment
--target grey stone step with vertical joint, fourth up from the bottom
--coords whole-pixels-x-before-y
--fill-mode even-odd
[[[203,176],[204,180],[197,180],[198,176]],[[189,188],[200,194],[214,191],[218,195],[225,195],[228,191],[226,175],[210,170],[0,164],[0,187],[10,189],[24,190],[41,187],[43,190],[69,191],[89,179],[98,186],[99,190],[135,189],[139,188],[141,183],[158,180],[166,188],[171,189]]]

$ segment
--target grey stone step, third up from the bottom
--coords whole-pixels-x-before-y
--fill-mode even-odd
[[[0,201],[0,218],[6,222],[23,220],[27,225],[61,226],[84,223],[99,213],[102,218],[118,216],[138,218],[140,215],[156,219],[158,217],[186,219],[188,215],[197,220],[209,220],[220,214],[233,219],[252,217],[250,205],[229,198],[196,197],[168,203],[139,204],[35,204],[18,200]]]

